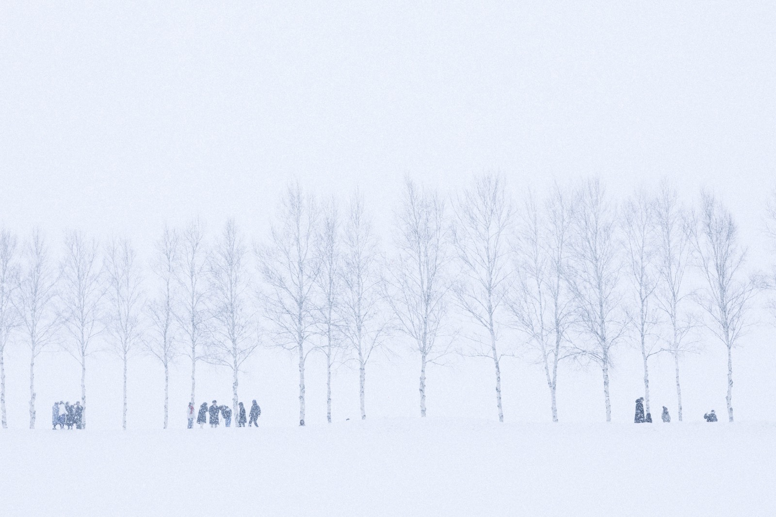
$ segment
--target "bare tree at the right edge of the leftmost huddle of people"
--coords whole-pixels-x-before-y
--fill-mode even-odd
[[[99,245],[81,232],[64,236],[64,260],[61,265],[61,301],[64,328],[70,339],[67,350],[81,366],[81,425],[86,428],[86,358],[94,352],[92,341],[105,329],[102,298],[105,285],[99,264]]]

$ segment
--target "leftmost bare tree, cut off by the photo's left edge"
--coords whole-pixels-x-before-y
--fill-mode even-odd
[[[19,287],[19,264],[16,256],[16,235],[0,229],[0,421],[2,429],[8,428],[5,419],[5,345],[9,335],[19,325],[16,312],[16,295]]]

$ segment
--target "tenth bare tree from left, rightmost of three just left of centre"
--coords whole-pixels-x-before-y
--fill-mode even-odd
[[[372,353],[384,345],[388,319],[381,305],[379,255],[372,222],[365,213],[364,199],[356,192],[345,224],[345,254],[342,263],[342,328],[348,349],[359,362],[361,419],[366,419],[366,365]]]

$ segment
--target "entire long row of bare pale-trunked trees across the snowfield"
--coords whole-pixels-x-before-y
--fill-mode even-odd
[[[776,211],[771,214],[776,215]],[[774,217],[776,220],[776,217]],[[331,375],[352,361],[366,418],[369,363],[407,347],[420,361],[420,413],[427,370],[453,352],[494,366],[497,416],[504,421],[501,361],[528,347],[549,387],[558,421],[559,364],[601,370],[606,419],[609,377],[622,345],[639,350],[650,412],[650,359],[674,359],[682,418],[681,359],[701,328],[726,346],[729,420],[733,357],[747,325],[756,283],[733,217],[702,193],[686,206],[667,184],[618,203],[598,180],[554,186],[514,203],[498,175],[483,175],[450,197],[407,180],[390,238],[375,231],[362,193],[341,206],[316,200],[298,184],[282,196],[268,238],[251,247],[234,220],[213,241],[204,224],[165,227],[145,275],[130,241],[100,245],[78,231],[54,259],[40,231],[19,245],[0,232],[0,410],[5,427],[5,347],[29,348],[29,425],[35,425],[34,373],[44,349],[64,349],[81,367],[86,404],[88,358],[109,349],[123,363],[126,429],[128,359],[143,350],[165,372],[191,364],[195,402],[200,361],[231,373],[237,413],[240,373],[260,345],[293,352],[299,365],[300,425],[305,365],[326,358]],[[383,246],[381,238],[390,245]],[[462,323],[453,323],[452,316]],[[86,417],[84,414],[84,425]]]

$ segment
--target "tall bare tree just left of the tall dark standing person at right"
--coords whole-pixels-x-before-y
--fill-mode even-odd
[[[575,319],[587,335],[577,352],[601,367],[606,421],[611,422],[609,369],[611,350],[625,333],[628,318],[619,290],[621,257],[615,228],[614,203],[598,179],[584,182],[575,196],[570,235],[569,286]]]

